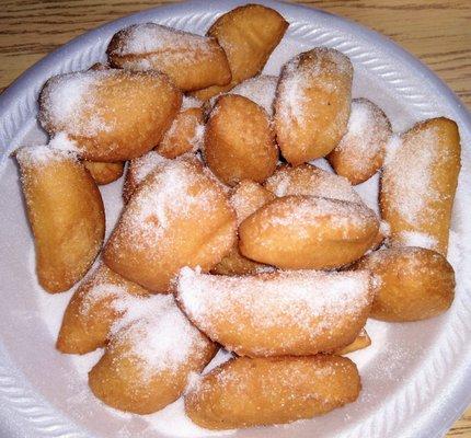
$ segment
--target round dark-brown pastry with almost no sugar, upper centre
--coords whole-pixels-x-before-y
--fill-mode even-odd
[[[278,148],[265,111],[240,95],[220,96],[206,125],[204,155],[228,185],[266,180],[275,171]]]

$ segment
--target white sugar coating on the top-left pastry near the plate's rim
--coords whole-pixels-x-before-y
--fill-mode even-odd
[[[156,23],[135,24],[122,31],[119,44],[112,55],[146,55],[162,50],[207,51],[210,38]]]

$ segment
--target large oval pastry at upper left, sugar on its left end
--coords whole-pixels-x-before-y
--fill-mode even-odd
[[[66,132],[85,160],[116,162],[158,145],[181,103],[164,74],[89,70],[50,78],[38,117],[49,134]]]

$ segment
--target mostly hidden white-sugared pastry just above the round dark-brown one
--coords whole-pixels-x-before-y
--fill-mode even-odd
[[[239,94],[250,99],[252,102],[262,106],[266,114],[272,117],[277,83],[278,78],[276,76],[259,74],[236,85],[232,90],[228,91],[227,94]],[[215,105],[218,96],[219,95],[216,95],[208,101],[210,108]]]

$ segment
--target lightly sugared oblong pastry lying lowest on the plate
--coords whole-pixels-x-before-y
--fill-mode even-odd
[[[238,357],[188,391],[185,411],[207,429],[267,426],[323,415],[354,402],[360,389],[346,357]]]

